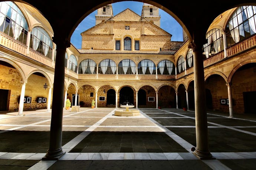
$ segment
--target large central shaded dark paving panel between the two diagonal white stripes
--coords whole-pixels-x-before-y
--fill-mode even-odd
[[[101,142],[95,142],[94,138],[99,137]],[[91,132],[70,152],[130,152],[127,148],[133,148],[133,152],[143,153],[149,150],[158,153],[188,152],[164,132]]]

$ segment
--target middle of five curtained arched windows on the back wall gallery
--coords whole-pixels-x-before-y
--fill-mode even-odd
[[[135,62],[131,59],[123,59],[118,64],[118,74],[136,74]]]

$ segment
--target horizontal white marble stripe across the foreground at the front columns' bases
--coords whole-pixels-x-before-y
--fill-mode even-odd
[[[211,152],[216,159],[255,159],[256,152]],[[41,160],[45,153],[0,152],[0,159]],[[196,160],[193,153],[65,153],[59,160]],[[210,161],[210,160],[209,160]]]

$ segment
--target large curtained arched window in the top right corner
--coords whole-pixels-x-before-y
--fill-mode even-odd
[[[225,29],[227,47],[256,33],[256,6],[241,6],[234,11]]]

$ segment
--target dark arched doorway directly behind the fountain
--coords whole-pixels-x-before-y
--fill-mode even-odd
[[[120,105],[122,105],[126,102],[128,102],[128,104],[130,104],[130,105],[134,105],[134,93],[133,93],[132,88],[130,88],[128,86],[123,87],[119,93]]]

